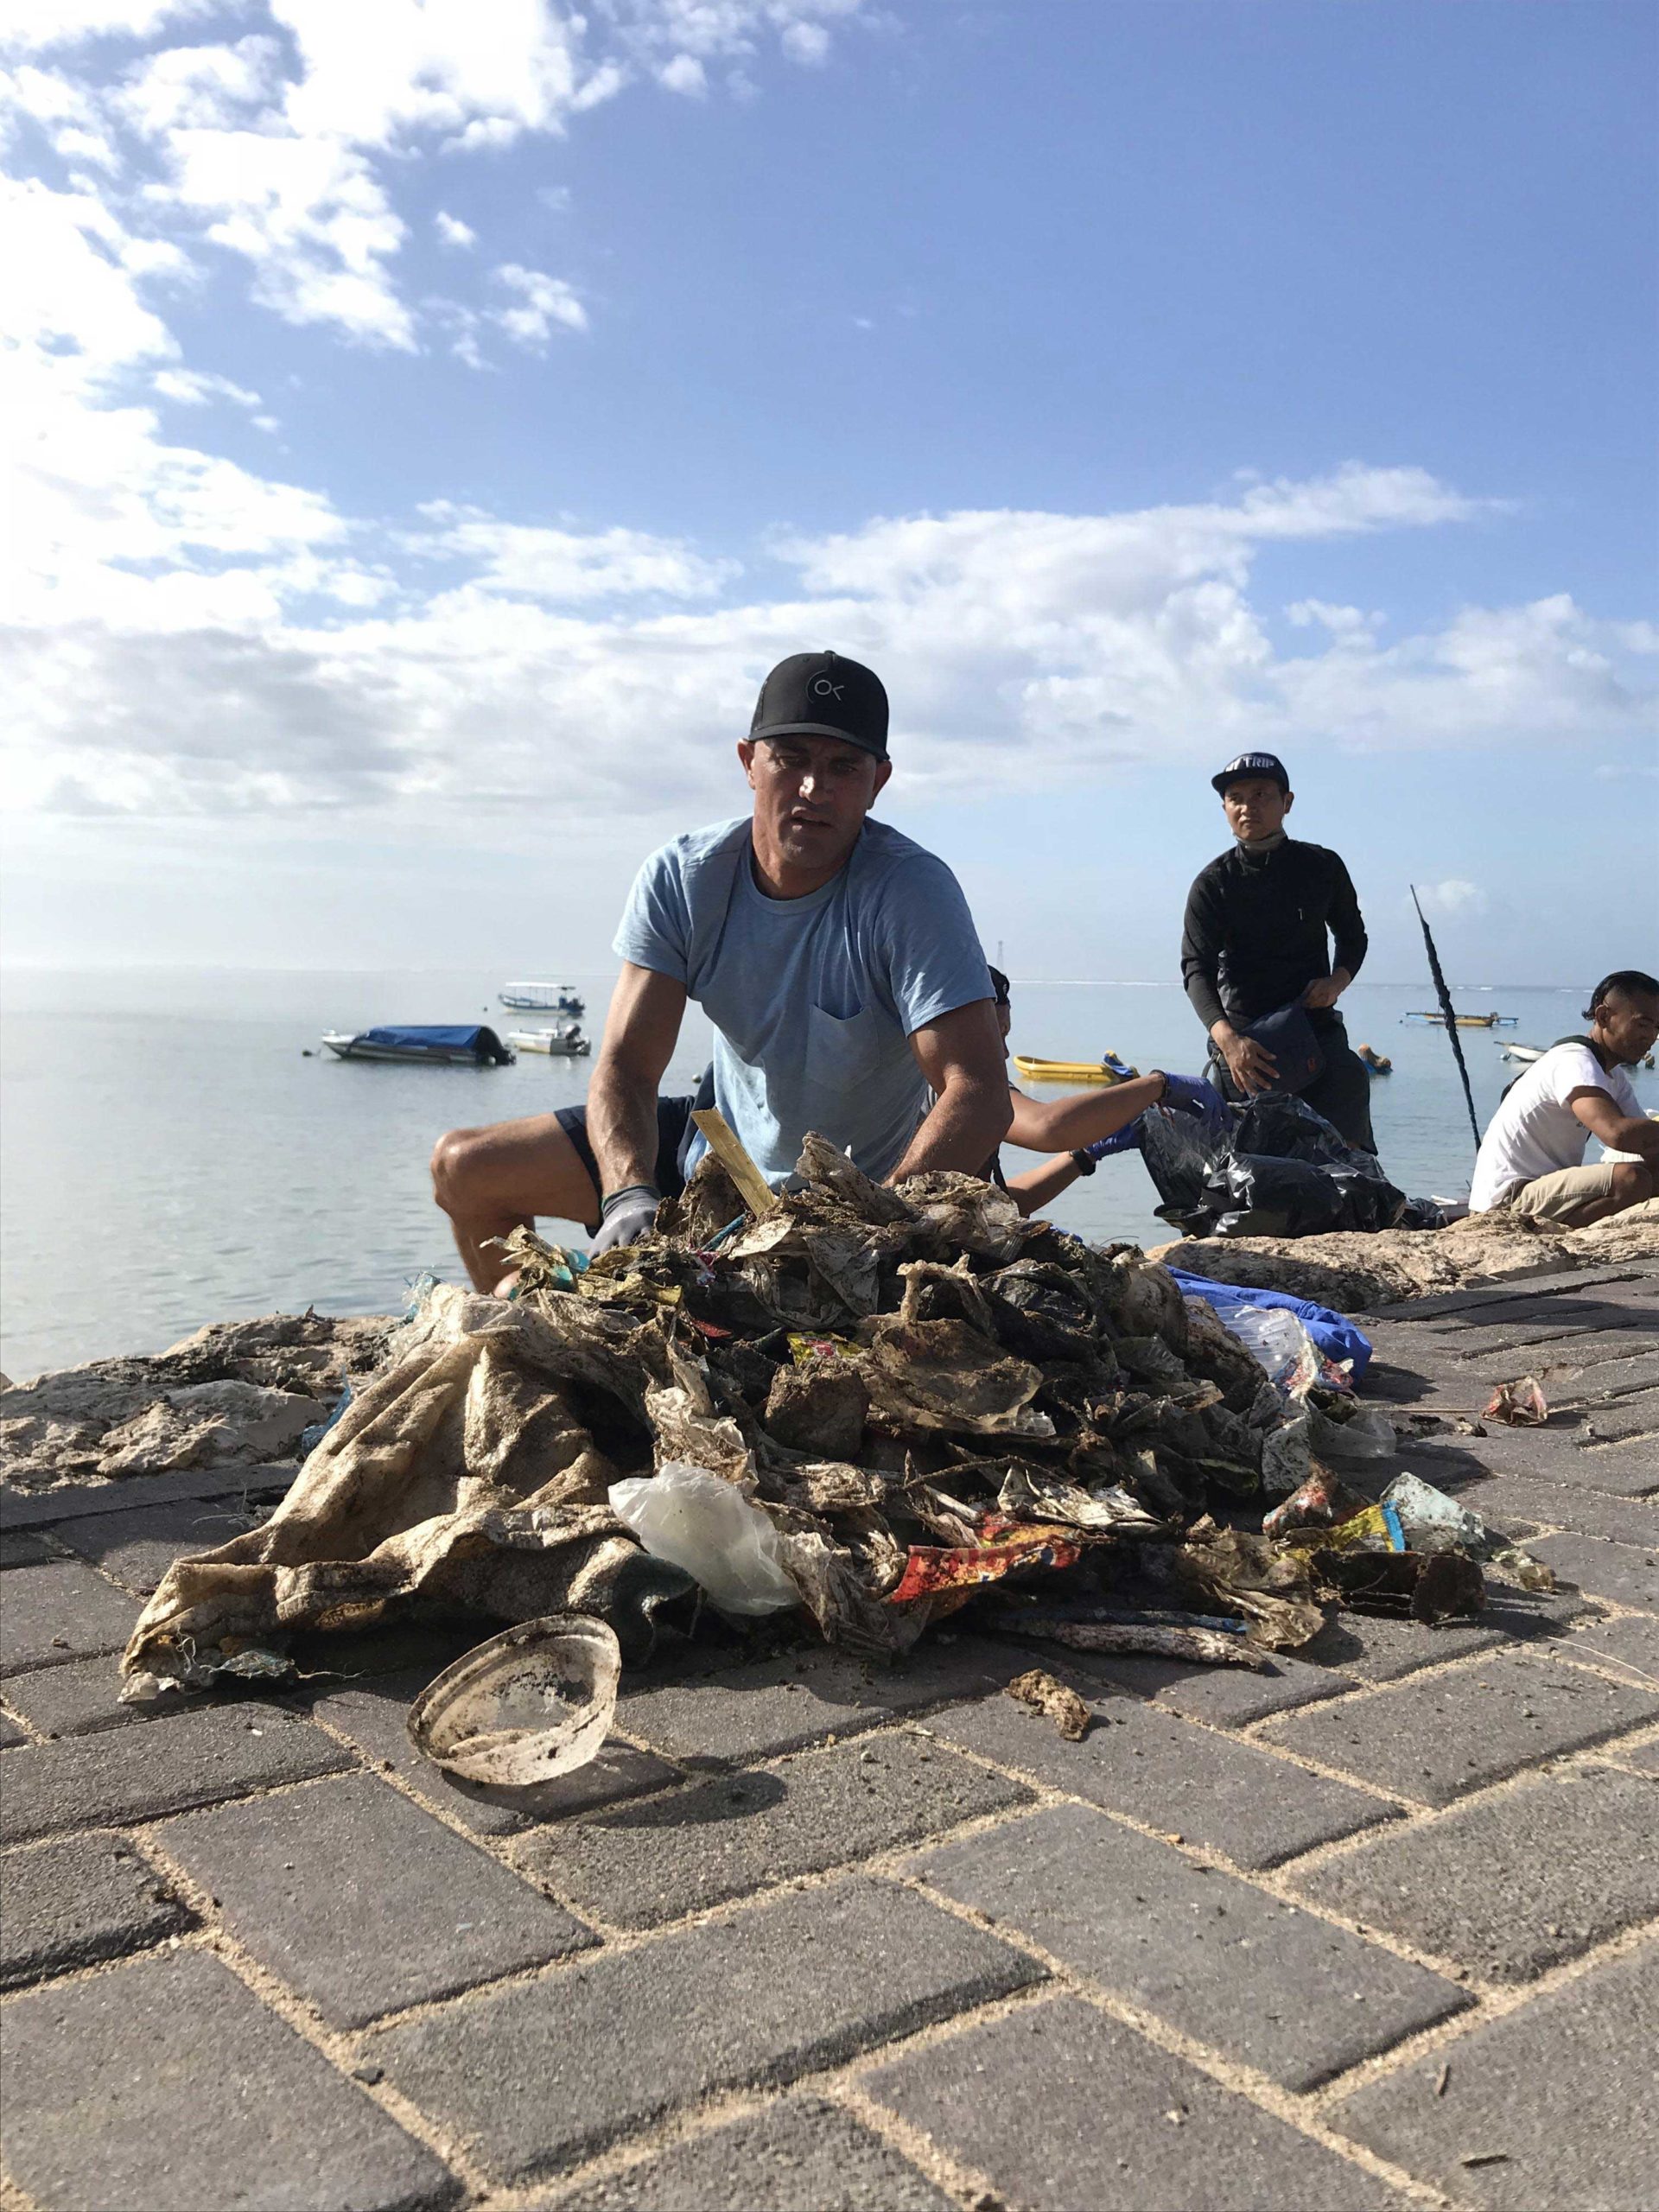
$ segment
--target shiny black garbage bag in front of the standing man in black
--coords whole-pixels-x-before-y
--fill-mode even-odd
[[[1183,1237],[1327,1237],[1387,1230],[1407,1208],[1376,1157],[1294,1097],[1252,1099],[1214,1141],[1190,1115],[1148,1113],[1141,1157],[1159,1217]]]

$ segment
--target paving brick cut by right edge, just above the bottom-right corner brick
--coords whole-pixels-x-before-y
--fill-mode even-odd
[[[1655,1785],[1590,1767],[1394,1827],[1292,1887],[1491,1982],[1526,1982],[1659,1913],[1655,1832]]]

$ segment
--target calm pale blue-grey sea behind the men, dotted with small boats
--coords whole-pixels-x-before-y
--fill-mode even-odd
[[[504,973],[504,971],[502,971]],[[515,969],[515,973],[522,973]],[[0,1367],[159,1352],[204,1321],[369,1314],[409,1276],[458,1272],[431,1206],[427,1155],[458,1124],[544,1113],[586,1093],[591,1060],[524,1055],[511,1068],[347,1064],[323,1029],[376,1022],[513,1026],[500,973],[11,971],[0,1002]],[[597,1040],[611,975],[573,975]],[[1548,1044],[1579,1029],[1582,995],[1462,989],[1515,1029],[1464,1031],[1482,1124],[1520,1068],[1502,1037]],[[1394,1060],[1374,1084],[1383,1164],[1409,1192],[1464,1197],[1473,1166],[1451,1048],[1402,1024],[1422,984],[1356,984],[1349,1037]],[[316,1057],[305,1060],[312,1048]],[[1020,982],[1013,1048],[1197,1073],[1203,1033],[1170,984]],[[670,1088],[695,1088],[708,1026],[695,1013]],[[1646,1106],[1659,1077],[1637,1073]],[[1029,1155],[1009,1155],[1024,1166]],[[1164,1241],[1135,1155],[1108,1159],[1053,1217],[1086,1237]],[[557,1234],[557,1230],[553,1232]]]

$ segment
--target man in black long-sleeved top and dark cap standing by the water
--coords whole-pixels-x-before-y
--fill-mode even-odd
[[[1338,854],[1285,836],[1294,792],[1272,752],[1241,752],[1210,781],[1234,845],[1188,891],[1181,982],[1210,1031],[1214,1082],[1234,1099],[1281,1088],[1274,1055],[1243,1031],[1265,1013],[1301,1004],[1325,1066],[1298,1097],[1349,1144],[1376,1152],[1371,1077],[1336,1013],[1365,960],[1365,922],[1349,874]]]

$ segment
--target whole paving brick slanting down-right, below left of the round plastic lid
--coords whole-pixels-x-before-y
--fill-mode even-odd
[[[338,2028],[540,1966],[593,1938],[372,1774],[168,1820],[230,1933]]]

